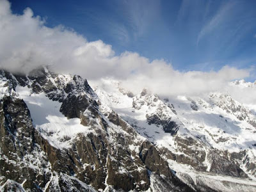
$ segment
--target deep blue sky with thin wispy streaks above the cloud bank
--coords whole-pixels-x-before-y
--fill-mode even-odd
[[[13,13],[29,7],[47,26],[61,24],[88,41],[112,45],[116,54],[138,52],[180,71],[256,63],[256,1],[10,2]]]

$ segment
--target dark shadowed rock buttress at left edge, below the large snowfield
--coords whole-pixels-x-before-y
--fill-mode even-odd
[[[40,191],[51,174],[48,160],[44,152],[36,145],[36,133],[29,110],[23,100],[14,97],[3,97],[0,104],[0,183],[6,188],[15,182],[22,184],[24,189]],[[36,164],[36,165],[35,165]],[[15,182],[8,182],[14,180]]]

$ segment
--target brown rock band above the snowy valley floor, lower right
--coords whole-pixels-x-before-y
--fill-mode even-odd
[[[176,136],[175,144],[179,150],[178,154],[170,152],[166,148],[161,148],[161,154],[165,154],[167,159],[172,159],[177,163],[188,164],[198,171],[207,171],[239,178],[248,177],[244,170],[240,168],[246,156],[245,151],[230,153],[227,150],[209,149],[205,147],[204,143],[200,143],[200,141],[191,137],[180,138]],[[250,167],[252,168],[252,166]],[[248,169],[250,169],[249,166]]]

